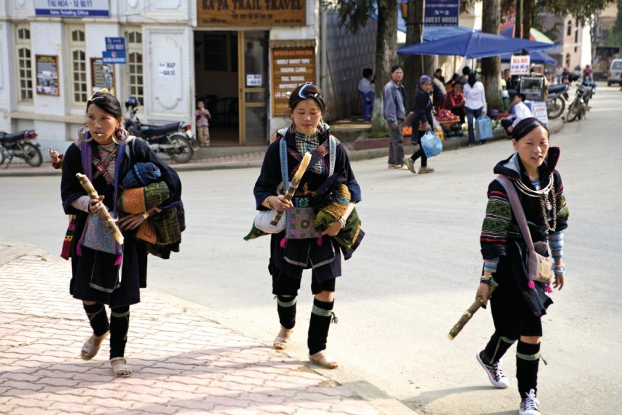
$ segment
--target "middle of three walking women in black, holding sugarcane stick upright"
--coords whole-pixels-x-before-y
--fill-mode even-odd
[[[361,189],[346,150],[323,122],[326,101],[321,89],[311,82],[298,86],[290,95],[289,109],[292,122],[276,132],[253,190],[257,210],[285,211],[287,218],[287,225],[272,233],[270,241],[268,270],[281,323],[274,349],[285,349],[290,343],[302,272],[311,269],[314,299],[307,336],[309,359],[334,369],[339,364],[326,353],[326,342],[330,323],[337,320],[333,313],[335,279],[341,275],[342,253],[348,259],[364,234],[360,221],[356,224],[354,209],[361,201]],[[307,152],[311,161],[289,200],[283,192]],[[328,210],[328,203],[334,209],[332,216],[321,211]],[[320,218],[328,220],[319,225]],[[343,234],[349,235],[345,245]]]

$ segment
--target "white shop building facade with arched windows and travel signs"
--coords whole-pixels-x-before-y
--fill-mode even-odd
[[[149,124],[194,122],[204,100],[212,143],[265,145],[288,121],[288,91],[319,83],[329,102],[339,98],[332,116],[348,116],[359,111],[362,68],[373,68],[375,24],[347,35],[314,0],[3,4],[0,130],[35,129],[45,147],[77,138],[86,101],[102,87],[122,106],[137,98]],[[108,62],[106,38],[124,39],[124,63]],[[346,47],[328,46],[337,41]]]

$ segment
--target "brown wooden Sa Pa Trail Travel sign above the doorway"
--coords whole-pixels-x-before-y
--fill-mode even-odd
[[[305,0],[197,0],[197,26],[305,26]]]

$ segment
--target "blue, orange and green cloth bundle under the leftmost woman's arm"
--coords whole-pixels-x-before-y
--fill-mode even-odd
[[[143,221],[136,232],[136,238],[147,243],[148,251],[158,255],[158,246],[178,244],[181,229],[176,209],[162,209],[169,199],[169,187],[160,181],[160,169],[153,163],[136,163],[122,181],[123,192],[117,199],[117,209],[140,214],[156,209],[157,213]]]

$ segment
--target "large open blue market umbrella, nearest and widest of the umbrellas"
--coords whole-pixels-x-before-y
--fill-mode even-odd
[[[458,36],[445,37],[434,42],[405,46],[398,49],[397,54],[465,56],[467,59],[479,59],[502,55],[503,53],[520,53],[523,49],[531,51],[554,47],[555,44],[534,42],[516,37],[469,32]]]

